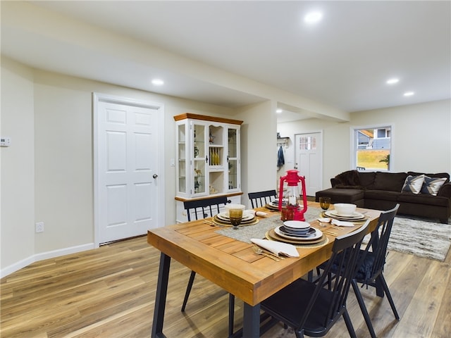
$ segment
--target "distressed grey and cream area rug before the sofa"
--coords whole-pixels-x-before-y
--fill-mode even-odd
[[[308,208],[305,213],[307,221],[311,222],[321,213],[319,208]],[[450,222],[448,222],[450,223]],[[369,236],[364,239],[368,242]],[[392,232],[388,240],[388,249],[412,255],[445,261],[451,246],[451,224],[433,223],[396,216]]]

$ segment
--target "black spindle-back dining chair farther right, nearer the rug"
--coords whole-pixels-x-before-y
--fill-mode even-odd
[[[376,295],[383,296],[384,292],[387,295],[388,302],[393,311],[393,315],[397,320],[400,319],[398,315],[395,303],[393,302],[392,295],[388,289],[387,282],[385,282],[385,277],[383,277],[383,268],[385,265],[385,257],[387,256],[387,246],[388,239],[390,239],[390,233],[393,227],[393,221],[395,220],[395,215],[397,209],[400,207],[399,204],[395,208],[388,211],[383,211],[379,215],[378,224],[376,228],[371,232],[371,238],[364,249],[360,249],[359,256],[357,258],[357,271],[352,278],[351,284],[354,294],[359,303],[360,310],[364,316],[366,326],[368,327],[369,333],[372,338],[376,338],[376,333],[374,332],[373,324],[369,318],[368,310],[366,309],[365,302],[360,292],[360,288],[357,283],[362,284],[362,286],[371,286],[376,288]],[[320,269],[323,265],[320,265]],[[333,268],[330,271],[331,275],[336,274],[340,271]]]

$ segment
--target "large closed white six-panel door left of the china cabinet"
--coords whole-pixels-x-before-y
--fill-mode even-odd
[[[94,109],[97,244],[157,227],[159,106],[97,97]],[[161,181],[163,182],[163,181]]]

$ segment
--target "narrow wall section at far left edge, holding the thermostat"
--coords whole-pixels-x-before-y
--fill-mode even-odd
[[[1,156],[1,268],[22,268],[35,253],[35,154],[33,76],[1,58],[1,136],[12,144]],[[12,271],[11,271],[12,272]]]

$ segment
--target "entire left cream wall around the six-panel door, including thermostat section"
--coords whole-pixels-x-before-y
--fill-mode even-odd
[[[173,115],[235,113],[200,102],[1,63],[1,274],[94,242],[92,92],[164,105],[165,224],[175,223]],[[45,231],[35,234],[35,222]],[[22,263],[23,262],[23,263]]]

